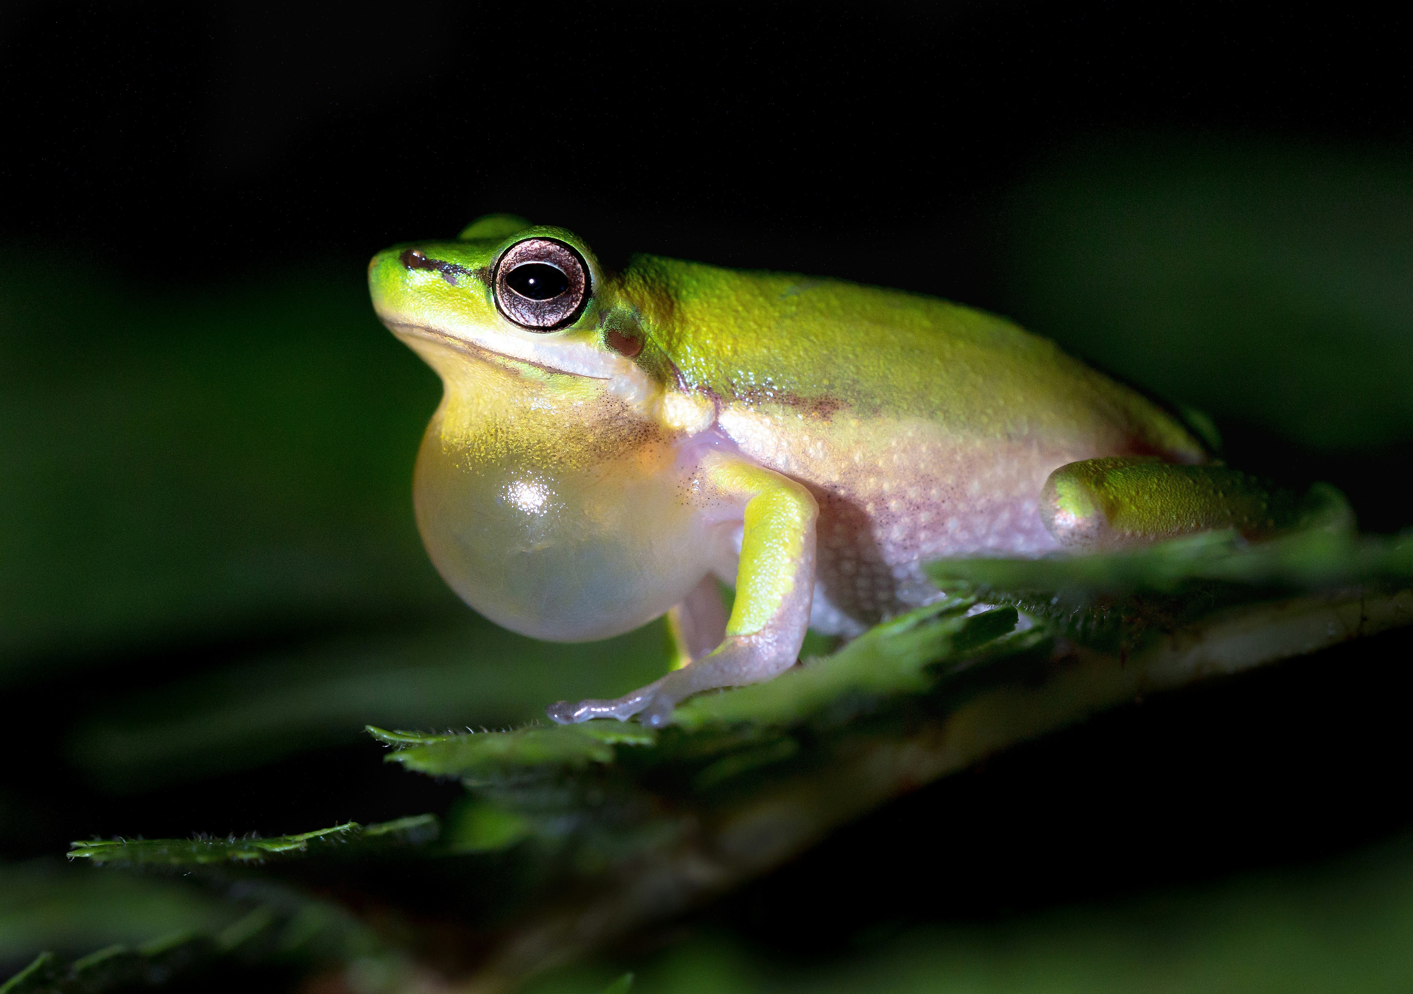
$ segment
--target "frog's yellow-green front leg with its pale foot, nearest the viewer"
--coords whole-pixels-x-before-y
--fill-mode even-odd
[[[725,638],[711,654],[615,700],[551,705],[547,713],[555,721],[626,721],[640,714],[643,724],[666,724],[678,702],[699,690],[759,683],[798,659],[814,599],[820,514],[814,497],[794,480],[738,456],[712,453],[701,472],[723,497],[745,501],[736,603]],[[711,582],[706,577],[704,583]],[[711,593],[715,596],[715,589]]]

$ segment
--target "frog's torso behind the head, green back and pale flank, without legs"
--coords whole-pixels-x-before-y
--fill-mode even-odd
[[[625,289],[685,390],[759,462],[811,486],[828,600],[870,621],[935,596],[918,563],[1056,548],[1046,477],[1201,446],[1137,393],[1000,318],[835,280],[634,260]]]

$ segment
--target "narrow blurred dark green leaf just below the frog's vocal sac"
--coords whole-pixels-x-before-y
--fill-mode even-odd
[[[365,724],[520,724],[564,696],[626,693],[667,671],[661,623],[562,645],[504,631],[469,609],[465,616],[455,625],[285,651],[158,693],[114,695],[69,754],[106,791],[150,788],[350,744]]]

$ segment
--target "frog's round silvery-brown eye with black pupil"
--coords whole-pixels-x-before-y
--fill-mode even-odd
[[[554,239],[526,239],[496,263],[496,306],[531,332],[574,322],[589,298],[589,267],[579,253]]]

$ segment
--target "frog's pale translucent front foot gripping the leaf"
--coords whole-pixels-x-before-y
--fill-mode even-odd
[[[673,709],[694,693],[760,683],[780,675],[794,665],[800,651],[794,644],[797,641],[793,634],[784,640],[771,637],[770,633],[733,635],[704,659],[674,669],[633,693],[613,700],[581,700],[577,705],[561,700],[547,707],[545,713],[560,724],[575,724],[593,717],[626,721],[637,714],[639,721],[657,729],[671,721]]]

